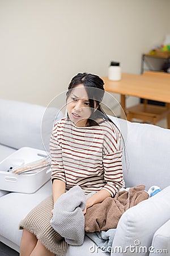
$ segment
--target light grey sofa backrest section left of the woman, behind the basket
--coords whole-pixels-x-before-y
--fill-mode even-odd
[[[46,109],[40,105],[0,99],[0,143],[16,149],[33,147],[41,150],[45,144],[45,149],[49,150],[46,145],[56,115],[57,119],[63,117],[57,108]]]

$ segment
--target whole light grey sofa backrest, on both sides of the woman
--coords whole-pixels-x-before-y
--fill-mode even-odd
[[[0,143],[16,149],[34,147],[49,151],[54,122],[63,114],[57,108],[0,100]],[[170,130],[131,123],[109,116],[125,141],[123,169],[126,187],[170,184]],[[126,156],[126,157],[125,157]]]

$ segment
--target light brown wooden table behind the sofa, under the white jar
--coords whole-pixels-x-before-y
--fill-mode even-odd
[[[107,92],[121,94],[121,106],[124,112],[126,112],[126,95],[147,100],[163,101],[168,104],[168,109],[170,109],[169,74],[165,74],[165,77],[159,77],[156,75],[122,73],[120,81],[111,81],[108,80],[108,77],[102,77],[102,79],[105,83],[104,89]]]

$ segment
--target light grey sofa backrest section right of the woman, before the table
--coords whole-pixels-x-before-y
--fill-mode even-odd
[[[111,116],[110,116],[111,117]],[[111,117],[125,138],[123,169],[126,187],[170,184],[170,130]],[[126,156],[126,158],[125,158]]]

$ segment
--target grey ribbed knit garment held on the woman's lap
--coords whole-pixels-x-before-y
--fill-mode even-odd
[[[82,245],[84,242],[85,207],[86,198],[79,186],[69,189],[54,204],[50,223],[69,245]]]

